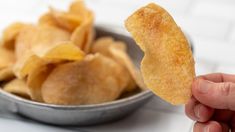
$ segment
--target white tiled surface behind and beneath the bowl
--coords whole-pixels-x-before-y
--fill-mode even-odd
[[[35,22],[49,5],[66,9],[71,1],[1,0],[0,31],[14,21]],[[86,0],[97,24],[120,28],[128,15],[149,2],[166,8],[192,38],[197,75],[235,73],[234,0]],[[0,111],[0,131],[8,132],[190,132],[192,123],[183,106],[171,106],[158,97],[123,120],[92,127],[50,126]]]

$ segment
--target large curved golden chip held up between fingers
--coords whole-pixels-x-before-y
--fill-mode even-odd
[[[195,77],[194,60],[170,14],[149,4],[132,14],[125,26],[145,52],[141,71],[147,87],[171,104],[187,103]]]

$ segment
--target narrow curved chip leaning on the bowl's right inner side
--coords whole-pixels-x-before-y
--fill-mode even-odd
[[[120,41],[114,41],[111,37],[99,38],[92,46],[93,53],[101,53],[107,57],[113,58],[116,62],[124,66],[131,76],[127,91],[132,91],[136,88],[136,84],[145,89],[145,85],[137,68],[132,63],[130,57],[126,53],[126,45]]]

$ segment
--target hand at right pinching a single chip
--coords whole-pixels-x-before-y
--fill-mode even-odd
[[[235,132],[235,75],[215,73],[197,77],[192,94],[185,112],[197,121],[194,132]]]

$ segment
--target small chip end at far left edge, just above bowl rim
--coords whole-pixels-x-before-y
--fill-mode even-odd
[[[9,81],[15,77],[12,67],[0,69],[0,82]]]

